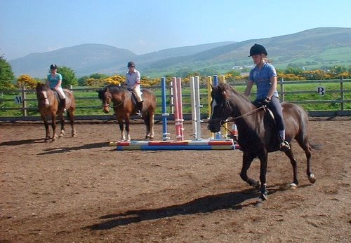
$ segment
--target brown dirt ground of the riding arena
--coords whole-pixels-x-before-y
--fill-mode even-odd
[[[0,124],[0,242],[351,242],[351,120],[310,127],[322,144],[317,182],[294,143],[298,188],[287,187],[289,159],[270,153],[269,200],[256,207],[240,151],[116,151],[116,123],[77,123],[76,138],[44,143],[41,123]],[[143,125],[131,130],[143,138]],[[249,175],[258,169],[255,160]]]

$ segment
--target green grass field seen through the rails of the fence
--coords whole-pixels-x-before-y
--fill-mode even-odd
[[[317,92],[313,92],[317,87],[322,86],[326,89],[326,95],[318,95]],[[243,93],[245,86],[244,85],[235,85],[235,88]],[[278,85],[278,90],[280,86]],[[157,113],[161,113],[161,89],[154,88],[155,94],[157,95]],[[351,100],[351,83],[344,83],[343,90],[346,90],[344,93],[344,99]],[[338,111],[341,109],[340,104],[340,83],[306,83],[306,84],[286,84],[284,85],[285,92],[305,92],[309,91],[312,93],[298,93],[298,94],[286,94],[284,95],[284,101],[293,102],[293,101],[326,101],[325,103],[303,103],[300,106],[306,111]],[[190,88],[188,85],[183,85],[183,113],[191,113],[191,100],[190,100]],[[253,94],[251,97],[254,97],[256,92],[256,87],[253,87]],[[0,117],[8,116],[22,116],[21,104],[15,104],[14,99],[16,95],[20,93],[11,93],[11,94],[0,94]],[[201,88],[201,104],[203,108],[201,113],[208,113],[208,98],[207,98],[207,89]],[[77,116],[91,116],[91,115],[103,115],[102,112],[102,103],[98,99],[97,92],[95,90],[81,90],[75,89],[74,96],[77,98]],[[5,100],[5,101],[4,101]],[[334,102],[327,102],[333,100]],[[169,101],[169,100],[168,100]],[[167,101],[167,102],[168,102]],[[39,116],[37,111],[37,98],[34,92],[27,92],[27,116]],[[11,110],[6,108],[13,108]],[[345,110],[351,110],[351,102],[345,103]],[[168,112],[169,102],[168,102]]]

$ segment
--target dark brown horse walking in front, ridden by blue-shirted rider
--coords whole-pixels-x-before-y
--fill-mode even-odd
[[[211,132],[219,132],[220,125],[232,117],[238,128],[240,145],[243,154],[241,179],[256,188],[260,185],[260,198],[267,200],[266,173],[267,153],[279,150],[278,132],[274,121],[264,106],[256,108],[249,99],[239,94],[229,85],[220,83],[212,87],[211,119],[208,121],[208,129]],[[311,171],[311,146],[308,141],[308,116],[307,113],[296,104],[282,103],[284,123],[286,125],[286,141],[291,144],[296,139],[307,158],[307,176],[314,183],[314,175]],[[298,185],[297,161],[293,151],[284,151],[293,166],[292,188]],[[251,162],[258,157],[260,160],[260,182],[254,181],[247,175]]]

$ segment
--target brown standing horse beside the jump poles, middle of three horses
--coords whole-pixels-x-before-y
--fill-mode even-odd
[[[154,139],[154,113],[156,109],[156,96],[154,92],[148,89],[142,89],[143,109],[141,110],[144,123],[146,125],[146,139]],[[98,90],[99,99],[102,100],[103,111],[110,112],[110,103],[113,103],[114,113],[116,114],[121,130],[121,140],[130,141],[129,134],[130,117],[135,115],[135,102],[130,90],[117,85],[107,85]],[[124,132],[124,123],[126,122],[126,134]]]

